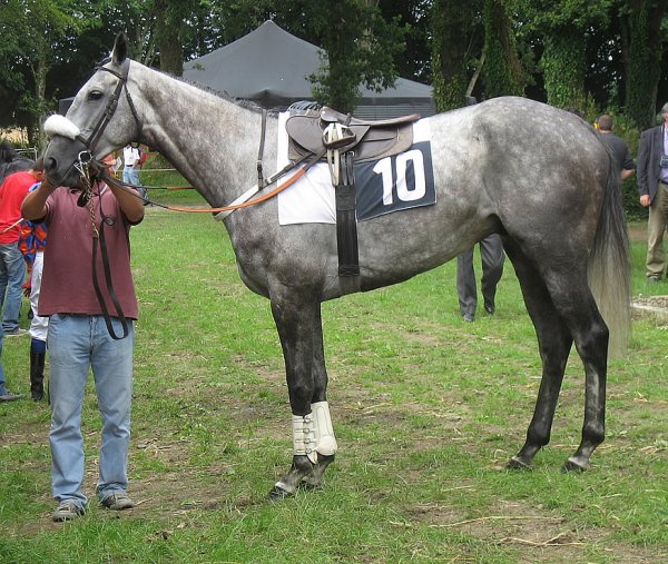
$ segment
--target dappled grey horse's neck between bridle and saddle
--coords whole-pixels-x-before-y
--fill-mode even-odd
[[[141,141],[164,155],[209,204],[228,204],[255,182],[259,112],[148,69],[136,80],[146,101],[139,109],[146,112]],[[275,162],[271,144],[265,157]]]

